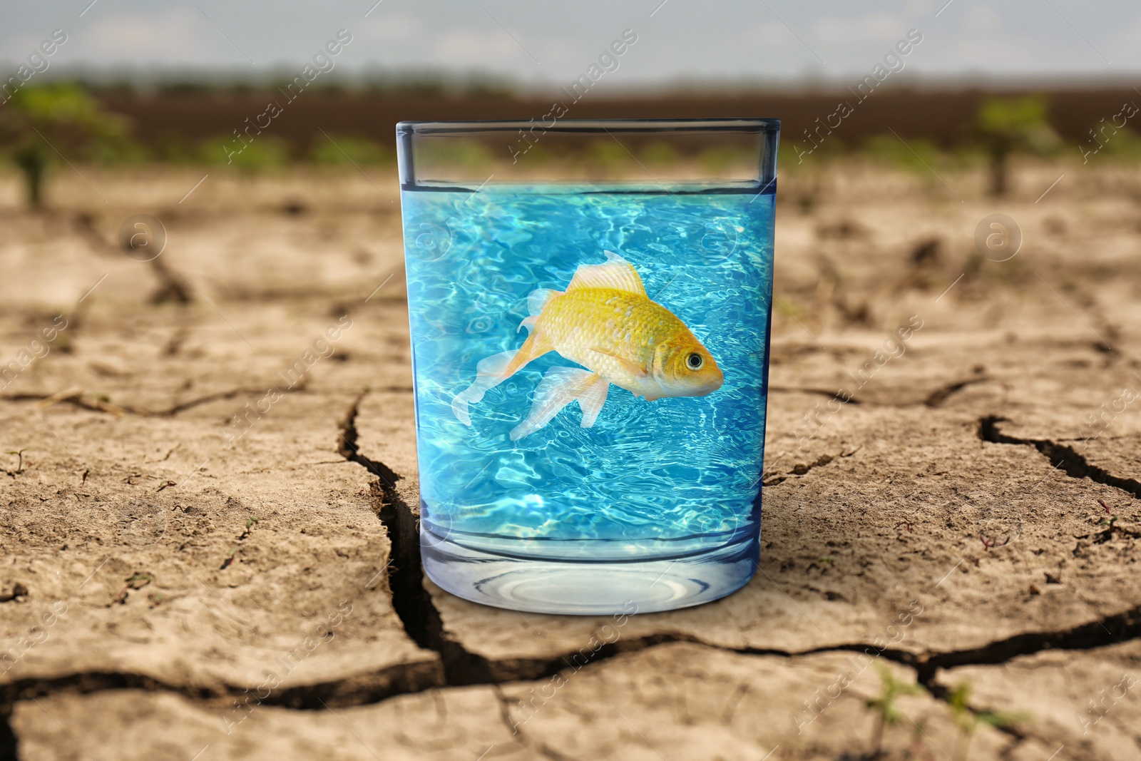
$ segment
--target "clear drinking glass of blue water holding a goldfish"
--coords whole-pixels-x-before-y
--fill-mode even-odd
[[[396,132],[428,576],[559,614],[747,583],[779,122]]]

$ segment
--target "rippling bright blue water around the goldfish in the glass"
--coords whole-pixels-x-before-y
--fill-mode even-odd
[[[774,199],[755,186],[405,189],[426,545],[582,562],[735,545],[755,559]],[[512,442],[543,373],[577,366],[552,351],[472,404],[470,427],[456,420],[476,363],[526,338],[527,296],[565,290],[606,250],[709,349],[723,386],[648,402],[612,384],[592,428],[570,404]]]

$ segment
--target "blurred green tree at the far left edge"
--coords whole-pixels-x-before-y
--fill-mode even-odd
[[[38,208],[56,151],[86,156],[100,146],[123,145],[126,121],[106,113],[79,84],[26,87],[0,111],[0,140],[24,175],[29,203]]]

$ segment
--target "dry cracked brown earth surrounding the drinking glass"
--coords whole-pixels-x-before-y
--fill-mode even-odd
[[[759,572],[622,620],[422,576],[391,183],[84,178],[0,177],[0,756],[1141,759],[1136,169],[787,170]]]

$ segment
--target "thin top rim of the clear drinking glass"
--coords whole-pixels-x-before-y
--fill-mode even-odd
[[[535,127],[535,120],[480,119],[459,121],[403,121],[397,122],[397,136],[463,135],[469,132],[515,132]],[[559,119],[548,127],[539,122],[544,132],[601,133],[601,132],[779,132],[779,119],[718,118],[718,119]]]

